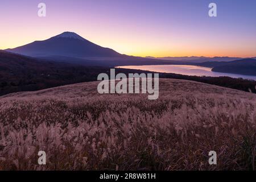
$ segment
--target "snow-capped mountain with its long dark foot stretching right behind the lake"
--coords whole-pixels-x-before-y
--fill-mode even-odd
[[[74,32],[63,32],[47,40],[6,49],[20,55],[65,63],[115,67],[118,65],[179,64],[178,61],[153,60],[144,57],[121,55],[110,48],[89,42]]]

